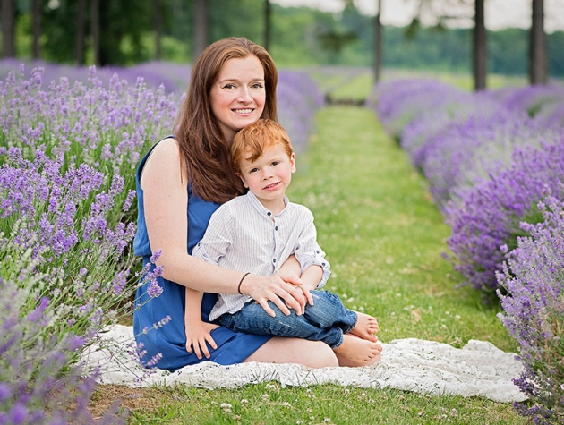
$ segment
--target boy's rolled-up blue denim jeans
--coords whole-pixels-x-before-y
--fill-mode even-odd
[[[306,304],[301,316],[290,310],[286,316],[278,307],[269,302],[276,313],[273,318],[254,301],[247,302],[242,310],[226,313],[218,322],[230,329],[256,335],[293,336],[323,341],[331,348],[343,343],[343,334],[355,327],[358,315],[348,310],[337,295],[329,291],[312,291],[313,305]]]

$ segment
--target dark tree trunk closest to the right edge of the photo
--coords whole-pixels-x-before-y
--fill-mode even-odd
[[[531,84],[546,84],[548,81],[548,60],[546,34],[544,33],[543,0],[533,0],[533,22],[529,46],[529,81]]]

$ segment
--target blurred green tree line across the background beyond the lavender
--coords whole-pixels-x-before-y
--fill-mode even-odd
[[[365,16],[354,1],[344,1],[343,12],[335,14],[269,0],[0,0],[2,55],[77,65],[185,63],[210,42],[244,36],[267,47],[282,66],[474,70],[476,81],[481,78],[476,66],[482,72],[531,74],[532,30],[479,30],[476,39],[479,23],[455,30],[422,28],[417,20],[405,28],[381,26],[380,13]],[[440,19],[440,11],[433,13]],[[474,21],[480,20],[483,15],[476,13]],[[563,76],[564,32],[543,42],[546,74]]]

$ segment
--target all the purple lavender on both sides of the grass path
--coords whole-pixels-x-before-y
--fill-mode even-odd
[[[317,72],[325,90],[358,74]],[[298,152],[323,106],[311,74],[279,72],[279,119]],[[117,409],[92,418],[96,373],[84,378],[75,361],[132,314],[144,272],[130,248],[134,170],[172,131],[189,78],[177,64],[0,61],[0,423],[125,423]],[[451,229],[454,280],[500,302],[526,367],[516,384],[533,402],[521,413],[560,423],[564,87],[471,94],[429,79],[385,81],[367,106],[427,179]],[[159,272],[143,275],[150,296]],[[131,355],[158,361],[134,345]]]

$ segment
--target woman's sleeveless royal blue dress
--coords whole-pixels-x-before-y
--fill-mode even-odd
[[[156,146],[156,145],[155,145]],[[153,254],[147,225],[145,223],[145,211],[143,208],[143,191],[140,185],[141,170],[150,155],[147,153],[137,169],[136,187],[138,202],[137,234],[133,242],[135,255],[143,258],[143,265],[150,262]],[[192,253],[193,246],[201,240],[206,227],[209,224],[209,217],[219,207],[218,203],[207,202],[200,197],[192,194],[191,185],[188,184],[188,234],[187,244],[188,253]],[[155,247],[155,251],[158,247]],[[154,266],[153,266],[154,267]],[[136,304],[148,301],[147,286],[142,285],[137,290]],[[201,360],[194,353],[186,351],[186,336],[184,333],[184,306],[185,291],[184,286],[178,285],[162,277],[158,278],[158,285],[163,288],[163,293],[158,297],[150,299],[149,302],[141,306],[139,310],[133,312],[133,331],[137,343],[143,344],[143,350],[147,353],[141,359],[143,362],[150,361],[158,353],[162,358],[158,361],[159,369],[177,370],[183,366],[198,363],[200,361],[215,361],[216,363],[227,365],[240,363],[254,353],[262,344],[266,343],[271,336],[257,336],[234,332],[226,327],[218,327],[211,332],[218,349],[213,350],[209,345],[211,357]],[[215,293],[204,293],[201,303],[201,319],[208,320],[209,311],[217,300]],[[164,327],[153,329],[153,324],[158,323],[166,316],[171,317],[171,321]],[[149,332],[143,334],[143,329],[148,328]]]

